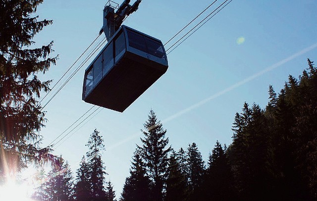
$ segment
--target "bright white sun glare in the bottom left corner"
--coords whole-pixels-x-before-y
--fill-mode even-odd
[[[29,193],[30,187],[27,185],[7,182],[0,186],[0,201],[33,201]]]

